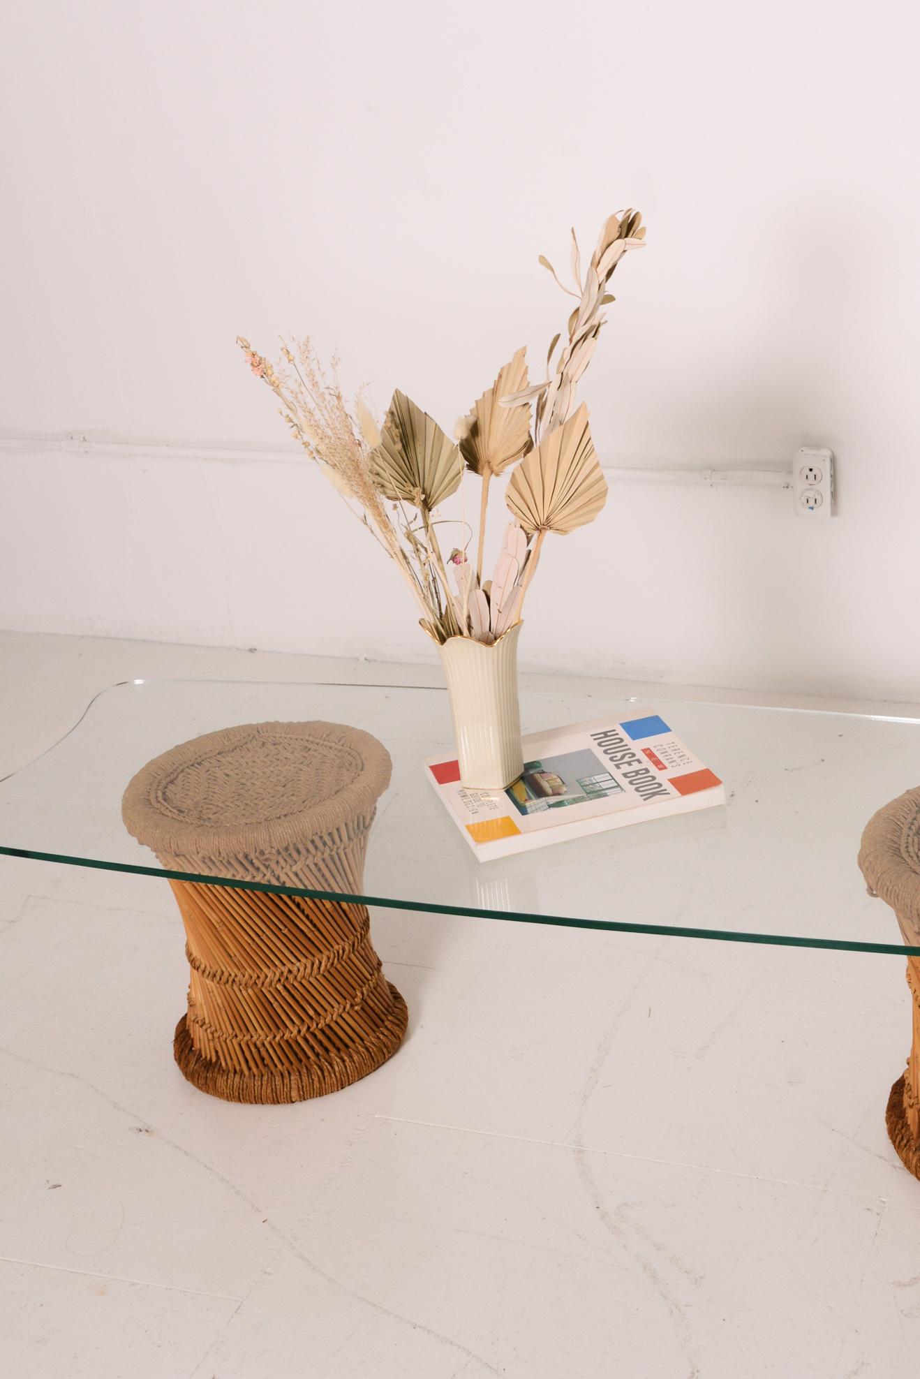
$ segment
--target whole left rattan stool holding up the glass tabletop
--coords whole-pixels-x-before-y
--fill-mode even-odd
[[[175,1060],[230,1102],[339,1091],[396,1052],[403,997],[371,945],[360,895],[390,758],[337,723],[250,723],[149,761],[121,803],[126,827],[172,873],[189,960]],[[270,888],[270,889],[269,889]],[[280,888],[280,889],[276,889]]]

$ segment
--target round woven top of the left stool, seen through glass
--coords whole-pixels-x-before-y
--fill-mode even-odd
[[[390,757],[341,723],[248,723],[154,757],[121,801],[128,833],[156,854],[276,852],[374,814]]]

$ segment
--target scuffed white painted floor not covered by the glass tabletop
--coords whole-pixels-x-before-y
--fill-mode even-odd
[[[316,669],[0,634],[0,775],[114,680]],[[0,858],[4,1375],[916,1379],[920,1183],[884,1129],[901,958],[374,934],[411,1011],[396,1058],[232,1106],[172,1063],[167,885]]]

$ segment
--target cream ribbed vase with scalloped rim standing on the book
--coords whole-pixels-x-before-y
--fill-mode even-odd
[[[503,790],[524,769],[517,706],[517,622],[487,647],[448,637],[439,651],[454,718],[461,785]]]

